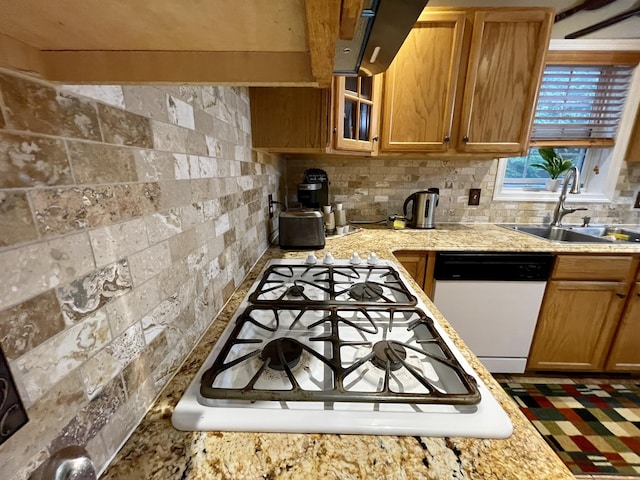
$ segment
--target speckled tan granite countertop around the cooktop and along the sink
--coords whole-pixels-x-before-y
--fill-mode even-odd
[[[330,251],[365,258],[375,251],[395,260],[394,250],[495,250],[578,253],[640,253],[637,244],[553,243],[493,225],[450,225],[436,230],[362,229],[330,237]],[[506,440],[372,435],[181,432],[171,413],[249,287],[272,258],[305,258],[308,252],[270,248],[251,270],[124,444],[104,479],[573,479],[573,475],[478,362],[430,300],[432,309],[471,366],[510,416]],[[405,272],[406,274],[406,272]],[[406,274],[408,278],[408,274]],[[412,281],[412,280],[411,280]],[[420,289],[414,283],[417,291]]]

